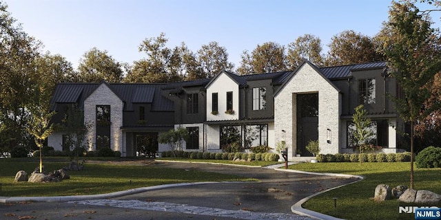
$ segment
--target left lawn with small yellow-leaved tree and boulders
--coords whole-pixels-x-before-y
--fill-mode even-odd
[[[46,171],[68,166],[66,159],[43,160]],[[52,162],[50,162],[52,161]],[[39,166],[35,159],[0,159],[0,197],[90,195],[132,188],[198,181],[256,181],[247,177],[197,170],[86,162],[85,170],[70,171],[70,179],[58,183],[14,182],[19,170],[28,176]]]

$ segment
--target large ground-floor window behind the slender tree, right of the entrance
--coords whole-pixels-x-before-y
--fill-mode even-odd
[[[351,148],[356,145],[356,142],[353,137],[353,130],[355,129],[355,125],[353,122],[347,122],[347,146]],[[388,129],[389,122],[387,120],[372,120],[371,126],[369,129],[373,131],[373,136],[367,141],[369,144],[373,144],[376,146],[381,146],[382,148],[387,148],[388,146]]]

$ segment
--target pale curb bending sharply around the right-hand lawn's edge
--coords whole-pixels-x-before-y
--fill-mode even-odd
[[[306,208],[302,208],[302,204],[307,202],[309,199],[311,199],[312,197],[315,197],[317,195],[320,195],[322,193],[331,191],[331,190],[335,190],[336,188],[340,188],[343,186],[347,186],[350,184],[355,184],[358,181],[362,181],[363,179],[365,179],[365,177],[362,176],[358,176],[358,175],[348,175],[348,174],[340,174],[340,173],[312,173],[312,172],[307,172],[307,171],[301,171],[301,170],[286,170],[286,169],[281,169],[281,168],[275,168],[274,170],[278,170],[278,171],[285,171],[285,172],[293,172],[293,173],[304,173],[304,174],[309,174],[309,175],[325,175],[325,176],[332,176],[332,177],[342,177],[342,178],[356,178],[358,179],[357,181],[353,181],[349,184],[344,184],[341,186],[336,186],[334,188],[329,188],[327,190],[324,190],[322,192],[317,192],[313,195],[310,195],[309,197],[300,199],[300,201],[298,201],[297,203],[295,203],[293,206],[291,206],[291,212],[295,213],[295,214],[300,214],[302,216],[307,216],[307,217],[311,217],[314,219],[323,219],[323,220],[342,220],[336,217],[332,217],[330,215],[327,214],[322,214],[320,212],[314,212],[312,210],[308,210]]]

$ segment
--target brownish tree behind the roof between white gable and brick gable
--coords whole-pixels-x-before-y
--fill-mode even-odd
[[[251,54],[245,50],[237,72],[241,75],[287,70],[285,47],[274,42],[257,45]]]

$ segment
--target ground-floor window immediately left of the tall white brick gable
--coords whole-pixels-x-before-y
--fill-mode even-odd
[[[268,124],[245,126],[245,148],[268,146]]]

